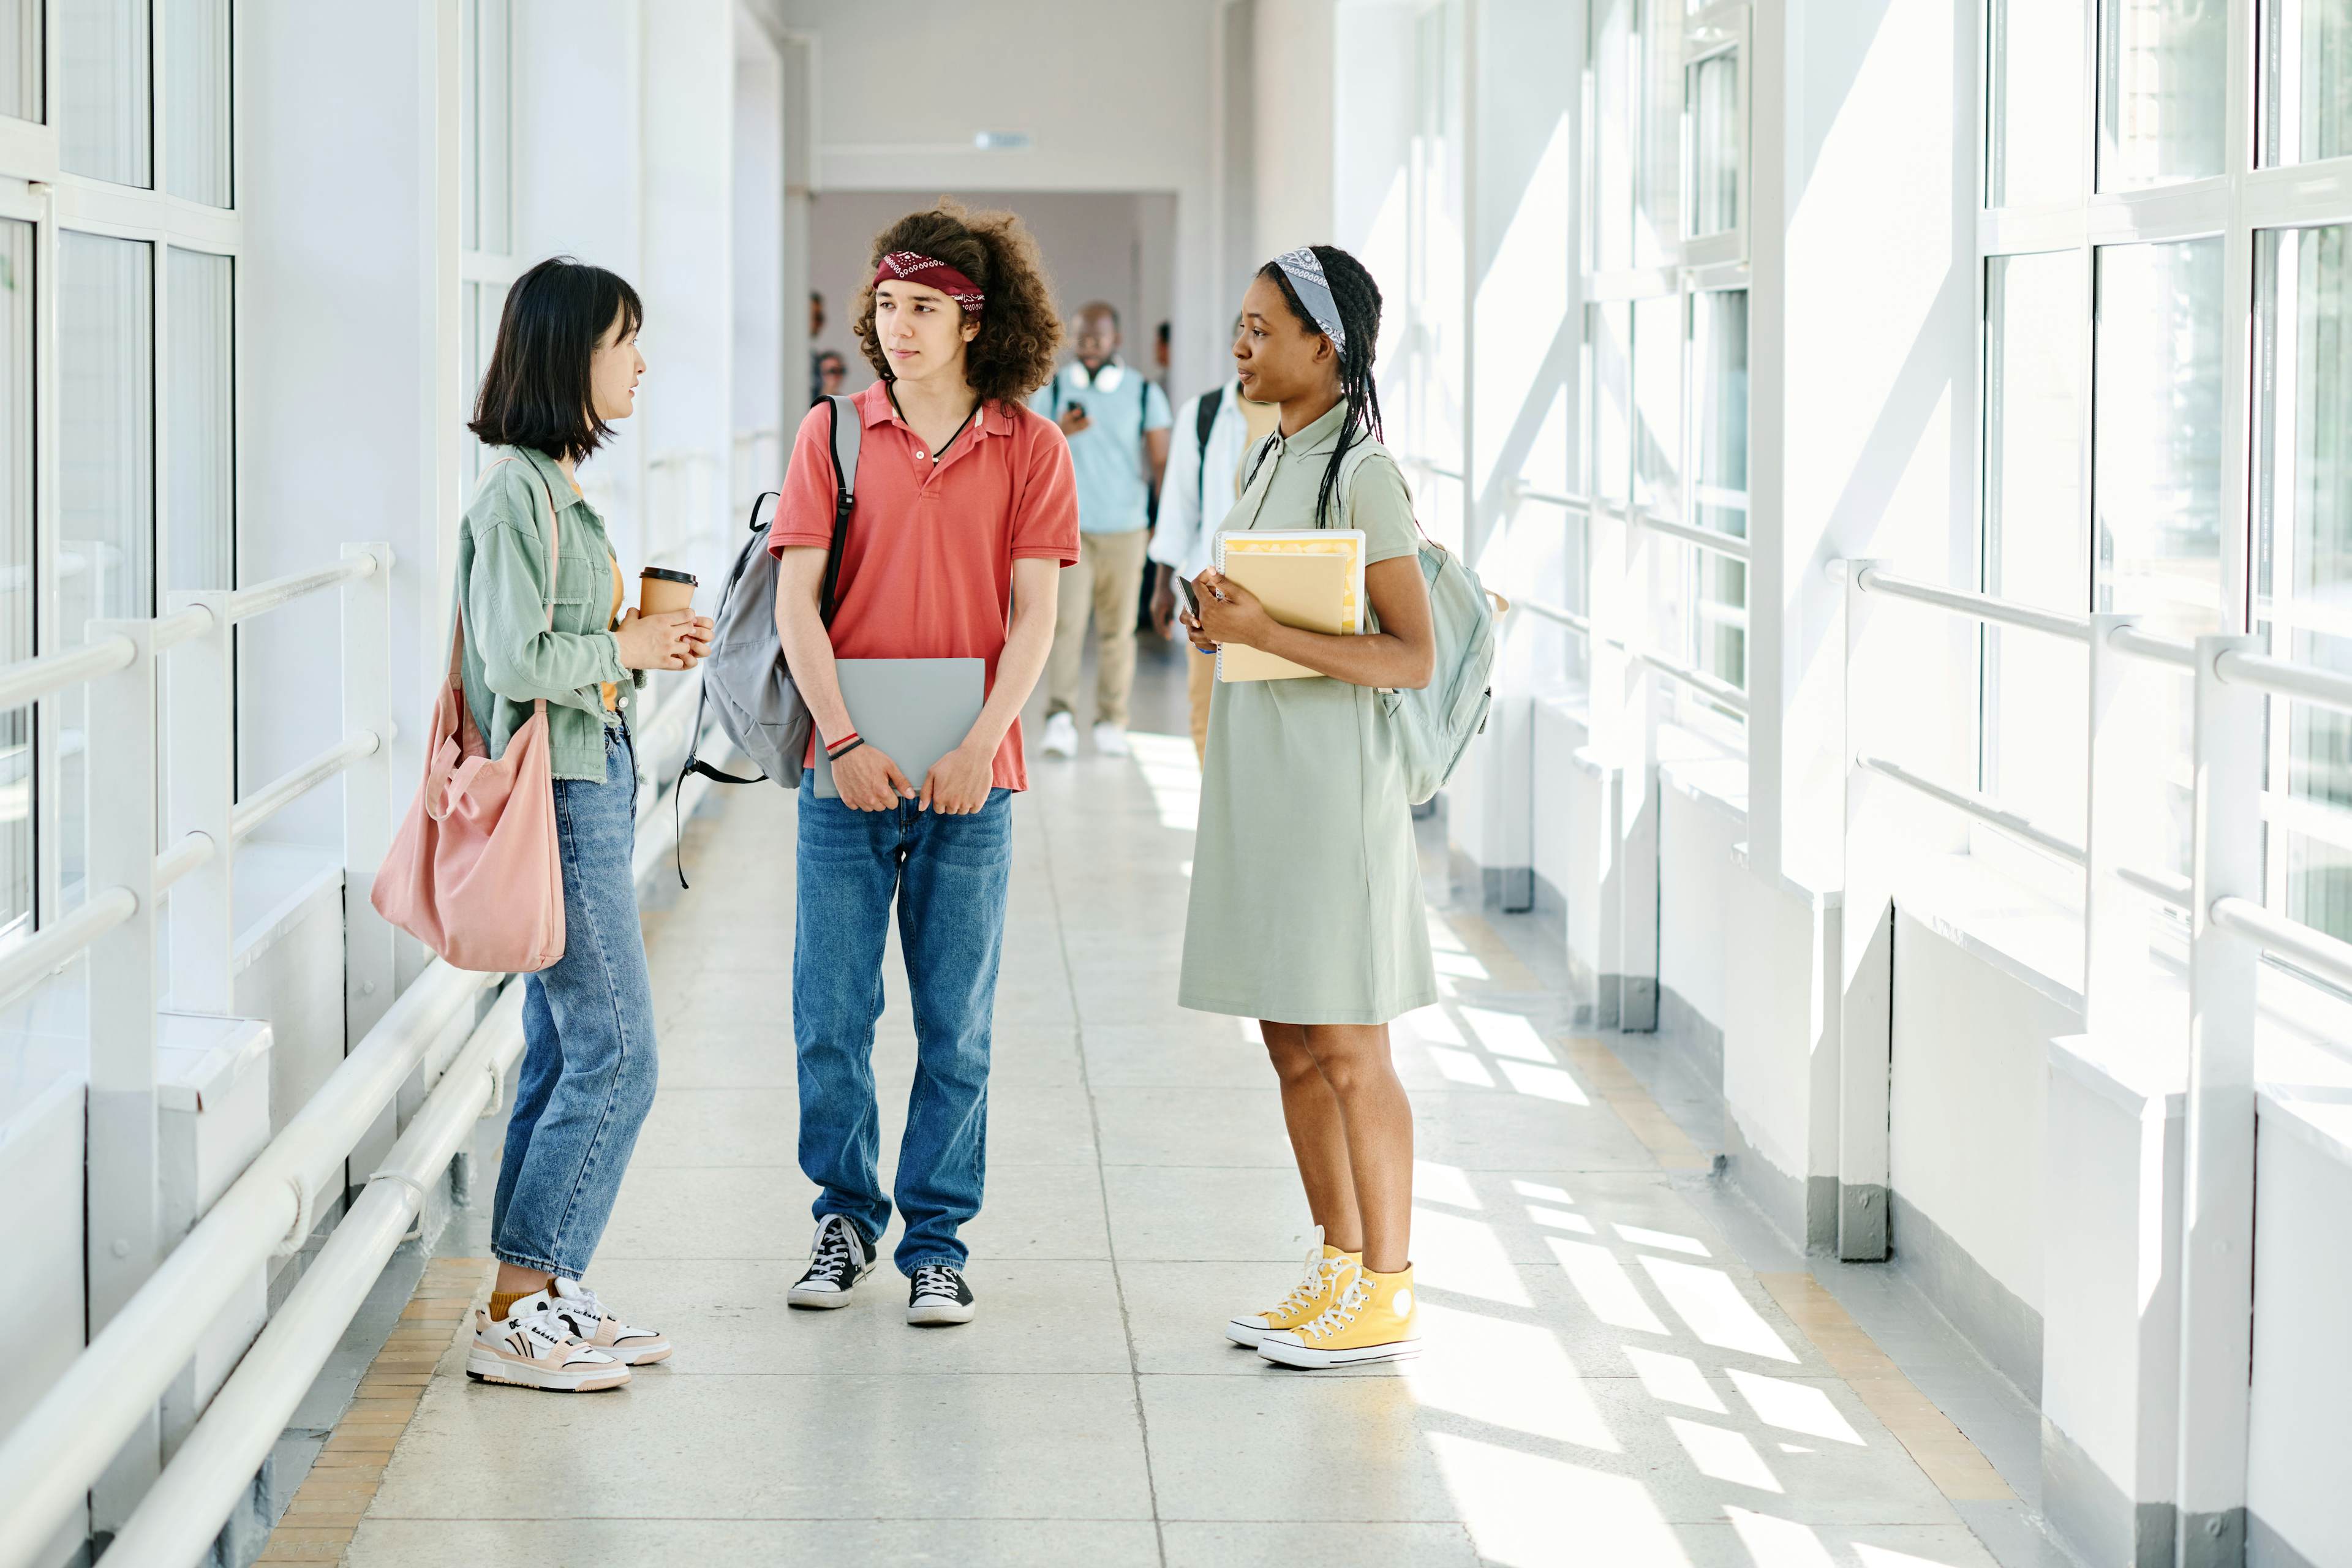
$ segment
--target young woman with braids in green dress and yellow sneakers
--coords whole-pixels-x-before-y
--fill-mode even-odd
[[[1204,571],[1185,630],[1279,654],[1310,679],[1218,684],[1209,705],[1178,1001],[1256,1018],[1282,1081],[1319,1248],[1287,1300],[1225,1335],[1284,1366],[1421,1349],[1409,1248],[1414,1112],[1388,1023],[1437,1001],[1421,863],[1378,689],[1430,679],[1435,635],[1404,475],[1381,442],[1381,289],[1317,244],[1263,268],[1232,346],[1242,395],[1282,404],[1225,531],[1362,529],[1367,635],[1279,625]]]

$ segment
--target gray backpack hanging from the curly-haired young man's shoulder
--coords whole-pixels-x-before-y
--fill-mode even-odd
[[[856,505],[858,484],[858,435],[863,421],[849,397],[826,400],[833,423],[833,545],[826,550],[826,588],[818,599],[826,623],[833,623],[835,595],[842,581],[842,543],[849,538],[849,510]],[[713,783],[760,783],[774,778],[786,790],[800,788],[800,762],[809,752],[809,705],[800,701],[800,686],[783,663],[776,644],[776,557],[767,552],[767,527],[760,510],[769,496],[762,494],[750,505],[750,538],[736,555],[734,571],[720,595],[713,616],[710,656],[703,661],[703,696],[694,710],[694,738],[687,764],[677,771],[677,783],[687,773],[701,773]],[[720,729],[750,757],[760,773],[736,778],[694,755],[703,733],[703,710],[715,708]],[[677,882],[684,884],[684,867]]]

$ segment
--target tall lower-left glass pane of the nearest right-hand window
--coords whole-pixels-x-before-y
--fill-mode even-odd
[[[2082,353],[2091,289],[2079,252],[1985,261],[1985,592],[2091,607],[2082,505]],[[1985,628],[1985,792],[2077,839],[2089,724],[2079,644]]]

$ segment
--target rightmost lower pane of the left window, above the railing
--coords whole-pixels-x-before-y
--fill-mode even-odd
[[[235,588],[235,261],[172,252],[172,571],[176,590]]]

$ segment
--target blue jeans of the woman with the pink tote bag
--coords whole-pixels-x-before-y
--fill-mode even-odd
[[[492,1253],[579,1279],[654,1107],[654,983],[637,926],[637,757],[604,731],[604,783],[555,780],[564,957],[524,978],[522,1077],[489,1211]]]

